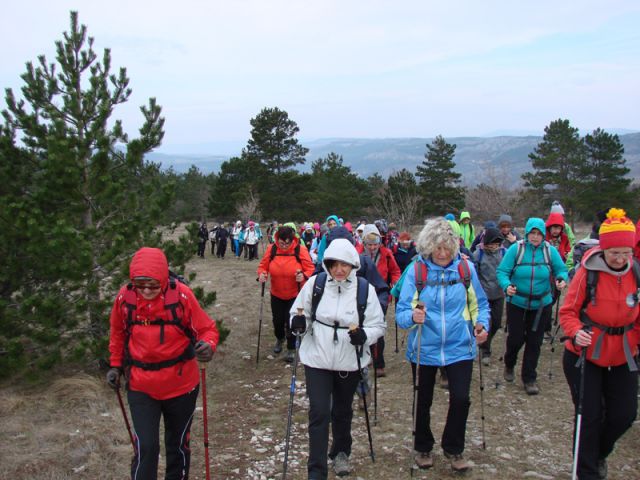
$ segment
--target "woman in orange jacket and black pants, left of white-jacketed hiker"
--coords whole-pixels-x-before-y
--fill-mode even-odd
[[[273,353],[282,351],[286,336],[285,361],[291,363],[295,356],[295,338],[289,331],[289,310],[304,282],[313,275],[315,266],[293,228],[278,228],[274,240],[258,265],[258,280],[264,283],[271,275],[271,314],[276,335]]]

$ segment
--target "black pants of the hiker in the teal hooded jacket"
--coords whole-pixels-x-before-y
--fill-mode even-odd
[[[507,351],[504,355],[506,367],[513,368],[518,361],[518,352],[524,345],[521,378],[523,383],[535,382],[536,369],[540,358],[540,347],[544,338],[544,326],[551,318],[552,304],[542,309],[538,328],[534,332],[533,324],[537,310],[527,310],[513,303],[507,303]]]

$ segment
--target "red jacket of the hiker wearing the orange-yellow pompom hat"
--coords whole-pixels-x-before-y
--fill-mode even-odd
[[[585,253],[582,266],[576,270],[576,275],[569,284],[569,291],[560,308],[560,325],[565,335],[572,338],[583,327],[580,321],[580,310],[587,295],[587,272],[598,270],[598,284],[596,287],[595,305],[592,301],[586,308],[586,314],[591,321],[606,327],[623,327],[635,322],[635,326],[625,335],[633,355],[638,351],[640,343],[640,308],[638,305],[629,307],[626,303],[629,293],[638,289],[633,271],[629,268],[622,275],[614,275],[603,267],[602,250],[594,247]],[[600,335],[604,335],[600,358],[594,360],[593,350]],[[565,347],[576,355],[581,348],[573,345],[571,340],[565,342]],[[623,335],[609,335],[598,327],[593,327],[591,345],[587,349],[587,359],[601,367],[615,367],[627,363],[623,349]]]

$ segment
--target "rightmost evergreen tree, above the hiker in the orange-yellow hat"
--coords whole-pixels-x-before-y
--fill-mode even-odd
[[[605,203],[629,209],[635,198],[630,189],[631,178],[627,176],[631,170],[626,166],[624,146],[618,135],[598,128],[585,135],[584,145],[587,164],[577,213],[588,220],[594,212],[602,210]]]

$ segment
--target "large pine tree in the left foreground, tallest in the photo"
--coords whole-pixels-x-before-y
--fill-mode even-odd
[[[140,136],[129,140],[110,121],[131,94],[126,70],[111,74],[110,51],[99,59],[77,13],[70,17],[56,62],[27,63],[24,98],[7,89],[2,112],[3,374],[24,367],[26,352],[48,367],[104,348],[124,265],[143,243],[160,243],[156,227],[172,194],[159,166],[144,161],[163,137],[160,107],[153,98],[141,107]]]

